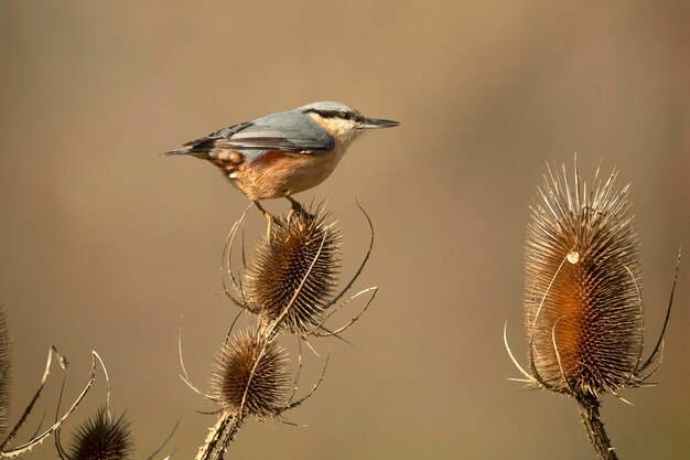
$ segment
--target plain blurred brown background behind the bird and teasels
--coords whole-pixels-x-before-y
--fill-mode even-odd
[[[344,275],[374,307],[315,341],[287,420],[249,421],[228,458],[586,459],[573,402],[520,392],[522,245],[547,162],[633,184],[649,334],[678,245],[690,245],[687,1],[0,2],[0,301],[13,345],[15,419],[55,344],[67,395],[104,357],[138,457],[193,458],[214,421],[179,378],[177,329],[203,388],[237,308],[220,249],[247,206],[207,163],[159,153],[314,100],[401,121],[355,143],[322,185],[345,234]],[[287,208],[283,200],[268,207]],[[254,228],[254,231],[252,231]],[[248,239],[263,232],[257,212]],[[682,264],[659,385],[605,398],[622,459],[690,456],[690,263]],[[341,317],[346,321],[351,310]],[[54,414],[63,373],[28,424]],[[105,400],[99,379],[66,440]],[[31,458],[55,458],[51,441]]]

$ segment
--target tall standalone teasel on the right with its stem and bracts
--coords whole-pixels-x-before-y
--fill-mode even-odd
[[[639,242],[617,171],[587,190],[578,172],[570,182],[549,168],[531,206],[525,250],[525,371],[504,340],[528,386],[572,396],[596,456],[616,459],[600,417],[601,395],[646,384],[661,363],[664,329],[643,359],[645,317]],[[680,264],[680,253],[678,264]],[[676,267],[676,277],[678,265]],[[621,398],[621,397],[619,397]],[[623,398],[621,398],[623,399]],[[625,400],[625,399],[623,399]]]

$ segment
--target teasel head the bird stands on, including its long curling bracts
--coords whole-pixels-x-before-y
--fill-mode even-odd
[[[220,276],[225,295],[238,307],[259,317],[266,328],[282,329],[308,336],[337,336],[367,310],[376,287],[360,290],[338,304],[369,260],[374,226],[362,207],[371,237],[355,275],[338,293],[337,275],[342,259],[342,234],[323,204],[274,218],[270,238],[257,243],[249,265],[242,245],[242,268],[233,268],[233,250],[246,213],[230,229],[223,250]],[[229,286],[228,286],[229,285]],[[343,307],[369,295],[364,308],[343,327],[330,331],[324,324]]]

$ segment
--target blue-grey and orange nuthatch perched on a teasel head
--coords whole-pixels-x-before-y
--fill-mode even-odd
[[[192,156],[218,167],[263,214],[270,237],[273,216],[260,201],[285,197],[291,213],[301,212],[291,195],[322,183],[364,132],[398,125],[322,100],[218,129],[162,156]]]

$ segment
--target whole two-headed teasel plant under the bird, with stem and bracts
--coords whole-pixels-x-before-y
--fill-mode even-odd
[[[364,211],[363,211],[364,212]],[[342,260],[342,234],[323,205],[276,216],[272,233],[259,240],[249,258],[241,247],[242,268],[233,267],[234,246],[247,212],[235,223],[223,250],[222,278],[226,296],[242,311],[256,314],[246,331],[230,333],[212,365],[211,391],[200,391],[190,378],[182,359],[183,381],[206,400],[219,406],[216,425],[200,448],[197,460],[222,459],[247,416],[278,419],[300,406],[323,381],[324,370],[311,389],[298,397],[302,370],[302,343],[310,336],[338,336],[367,310],[377,288],[364,289],[345,301],[346,292],[362,274],[374,244],[374,229],[364,260],[339,292],[337,275]],[[368,295],[364,308],[346,324],[330,330],[325,322],[352,300]],[[279,332],[298,338],[298,364],[278,344]],[[180,330],[182,338],[182,325]],[[310,345],[311,346],[311,345]]]

